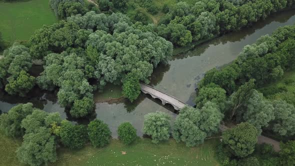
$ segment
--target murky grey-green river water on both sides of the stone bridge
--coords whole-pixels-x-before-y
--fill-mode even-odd
[[[267,19],[255,23],[252,27],[231,32],[203,44],[197,45],[186,53],[175,55],[167,65],[159,65],[154,69],[150,84],[171,94],[178,99],[193,105],[196,83],[204,73],[213,68],[229,63],[236,58],[243,46],[253,43],[261,35],[271,34],[279,26],[295,23],[295,10],[278,12]],[[112,137],[117,137],[116,129],[124,121],[129,121],[142,136],[143,116],[149,112],[163,111],[174,119],[176,114],[171,105],[161,105],[157,99],[141,94],[130,103],[119,98],[120,87],[107,85],[103,92],[94,93],[95,113],[87,119],[73,119],[56,101],[54,92],[34,90],[30,97],[9,96],[0,91],[0,110],[8,111],[17,103],[32,102],[36,107],[47,112],[60,112],[62,118],[87,123],[98,118],[108,124]]]

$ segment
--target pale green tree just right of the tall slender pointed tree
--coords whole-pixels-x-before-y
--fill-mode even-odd
[[[248,101],[247,109],[243,114],[243,119],[253,124],[258,131],[262,132],[261,127],[267,127],[270,120],[274,119],[273,106],[270,101],[263,98],[262,93],[255,89],[252,91]]]

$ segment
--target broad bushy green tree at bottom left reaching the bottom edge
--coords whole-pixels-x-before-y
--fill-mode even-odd
[[[54,136],[46,127],[40,127],[36,132],[26,133],[23,142],[16,150],[20,162],[29,165],[41,165],[56,161],[56,144]]]

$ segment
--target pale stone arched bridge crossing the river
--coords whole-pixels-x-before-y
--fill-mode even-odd
[[[143,93],[150,94],[152,98],[160,99],[163,105],[165,105],[166,103],[171,104],[175,110],[180,110],[182,107],[187,105],[186,103],[173,97],[172,95],[167,94],[147,84],[140,83],[140,88]]]

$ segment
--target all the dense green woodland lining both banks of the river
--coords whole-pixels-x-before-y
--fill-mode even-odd
[[[122,85],[123,95],[134,101],[140,93],[139,82],[149,82],[153,69],[171,58],[173,45],[236,31],[293,6],[292,0],[199,0],[194,5],[180,1],[164,5],[165,15],[155,25],[148,24],[143,12],[156,12],[151,0],[138,0],[134,15],[113,12],[128,7],[127,0],[97,3],[99,8],[83,0],[50,0],[60,21],[44,25],[27,42],[15,42],[3,51],[0,88],[20,96],[34,86],[56,90],[58,103],[71,116],[85,117],[94,109],[93,90],[103,89],[106,83]],[[195,107],[182,108],[172,125],[167,114],[148,113],[143,133],[155,144],[172,135],[191,147],[217,134],[222,121],[231,122],[235,126],[222,132],[222,142],[216,147],[222,165],[295,164],[294,140],[281,143],[279,153],[271,146],[257,145],[257,136],[263,131],[294,136],[295,103],[266,99],[255,89],[293,68],[294,44],[295,25],[261,36],[246,45],[232,63],[206,72],[198,83]],[[37,77],[29,73],[33,59],[43,60],[44,70]],[[30,165],[56,161],[57,145],[77,149],[90,142],[103,147],[111,137],[101,120],[72,124],[31,103],[18,104],[1,114],[0,129],[7,136],[23,137],[16,153],[21,162]],[[136,130],[128,122],[117,132],[126,145],[136,139]]]

